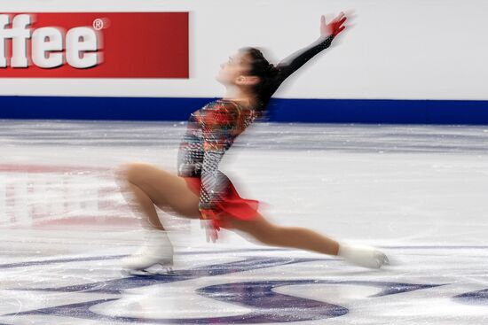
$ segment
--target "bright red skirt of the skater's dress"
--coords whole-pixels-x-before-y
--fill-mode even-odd
[[[197,196],[200,196],[201,179],[200,177],[183,177],[186,185]],[[257,216],[257,207],[259,201],[240,197],[235,190],[232,182],[229,181],[229,188],[221,202],[216,204],[217,219],[213,221],[214,227],[218,230],[220,227],[227,228],[229,218],[243,221],[254,220]]]

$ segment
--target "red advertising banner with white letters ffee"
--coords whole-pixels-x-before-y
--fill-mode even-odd
[[[0,13],[0,78],[188,78],[188,12]]]

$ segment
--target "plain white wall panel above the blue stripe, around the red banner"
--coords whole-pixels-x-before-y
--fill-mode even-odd
[[[190,12],[190,79],[1,79],[0,95],[220,97],[219,65],[243,46],[272,61],[319,35],[319,15],[354,11],[334,49],[277,97],[488,99],[483,0],[2,0],[2,12]],[[291,87],[293,85],[293,87]]]

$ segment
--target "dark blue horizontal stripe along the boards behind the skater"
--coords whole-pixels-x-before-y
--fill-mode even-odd
[[[187,120],[216,98],[0,97],[0,119]],[[269,120],[304,123],[488,124],[488,100],[273,99]]]

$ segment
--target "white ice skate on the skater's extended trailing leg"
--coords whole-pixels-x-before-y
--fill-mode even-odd
[[[385,253],[369,246],[340,244],[337,255],[359,267],[381,268],[390,264]]]

